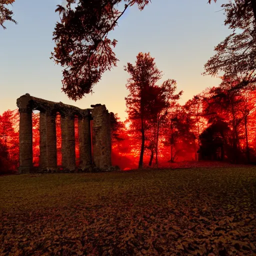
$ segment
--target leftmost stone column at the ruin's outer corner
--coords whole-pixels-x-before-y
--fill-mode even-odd
[[[19,108],[19,173],[28,173],[33,167],[32,110]]]

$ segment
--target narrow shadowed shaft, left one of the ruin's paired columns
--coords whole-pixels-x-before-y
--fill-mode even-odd
[[[47,167],[46,113],[42,111],[40,111],[39,130],[40,130],[39,167],[42,169],[45,169]]]

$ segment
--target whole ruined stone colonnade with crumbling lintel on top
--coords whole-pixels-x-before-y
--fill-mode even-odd
[[[62,102],[30,96],[17,98],[19,119],[19,173],[54,172],[57,169],[56,114],[61,116],[61,169],[65,172],[112,170],[110,118],[105,105],[80,109]],[[32,111],[40,111],[39,167],[33,167]],[[74,118],[78,118],[79,166],[75,165]],[[91,120],[93,120],[91,122]],[[92,123],[92,124],[91,124]]]

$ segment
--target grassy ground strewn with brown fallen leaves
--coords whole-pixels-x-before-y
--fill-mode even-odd
[[[256,255],[256,168],[0,177],[0,255]]]

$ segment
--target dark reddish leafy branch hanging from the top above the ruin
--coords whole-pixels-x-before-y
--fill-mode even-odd
[[[124,9],[117,9],[118,3]],[[73,100],[92,92],[102,73],[116,66],[113,47],[117,40],[107,35],[117,25],[125,10],[137,3],[142,10],[149,0],[67,0],[57,5],[60,22],[56,23],[53,39],[56,46],[53,60],[64,67],[62,90]],[[75,7],[73,5],[75,4]]]

